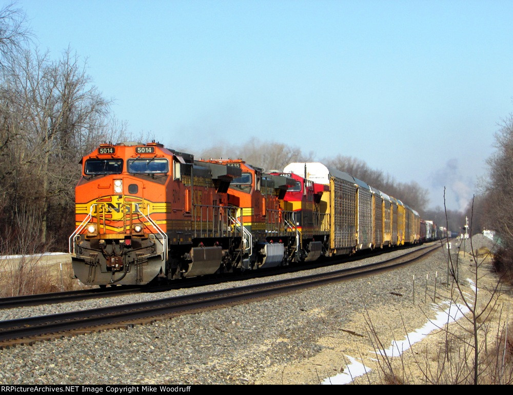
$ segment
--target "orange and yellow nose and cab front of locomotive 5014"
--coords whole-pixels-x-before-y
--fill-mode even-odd
[[[91,213],[98,225],[97,237],[108,238],[109,235],[121,236],[121,234],[130,236],[134,233],[134,224],[138,223],[144,224],[146,233],[155,232],[154,226],[144,218],[151,213],[154,222],[166,231],[167,221],[174,216],[180,202],[173,202],[172,208],[165,202],[171,201],[167,200],[168,196],[178,195],[172,193],[177,185],[170,182],[170,177],[167,177],[164,183],[154,183],[146,179],[149,179],[150,175],[158,174],[157,176],[161,177],[162,174],[167,173],[172,154],[162,147],[153,146],[152,148],[153,153],[137,154],[135,146],[102,145],[101,148],[84,157],[83,176],[75,189],[77,226]],[[108,153],[99,153],[100,150]],[[167,171],[147,173],[147,176],[141,174],[139,177],[127,171],[129,160],[153,161],[155,159],[166,160],[167,169],[163,170]],[[119,164],[120,170],[102,174],[102,169],[93,169],[91,161],[111,161],[111,166]]]

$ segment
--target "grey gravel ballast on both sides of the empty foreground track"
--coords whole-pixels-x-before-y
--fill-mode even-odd
[[[352,265],[383,261],[404,251],[407,250],[366,258]],[[370,342],[365,326],[355,324],[361,323],[364,316],[372,318],[374,329],[383,332],[384,337],[394,330],[404,332],[405,327],[408,330],[421,327],[425,316],[416,306],[429,314],[435,273],[439,273],[437,291],[441,292],[446,262],[446,251],[439,249],[422,262],[372,277],[184,315],[151,325],[0,350],[0,383],[319,384],[345,366],[340,349],[353,353],[353,357],[357,357],[358,352],[368,354]],[[337,268],[340,265],[311,272]],[[272,280],[305,274],[283,274]],[[415,305],[413,275],[416,278]],[[260,278],[204,286],[200,290],[179,289],[1,310],[0,319],[133,303],[266,281],[268,279]],[[374,318],[375,313],[382,314],[382,319]],[[336,343],[330,343],[329,339]],[[353,347],[356,341],[369,345],[358,351]],[[316,358],[320,360],[315,362]],[[306,373],[299,368],[294,370],[294,366],[301,364],[308,365]]]

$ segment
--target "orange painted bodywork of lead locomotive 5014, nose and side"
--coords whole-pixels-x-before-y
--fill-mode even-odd
[[[148,144],[147,146],[150,146]],[[76,225],[80,225],[91,213],[97,222],[98,237],[100,235],[133,234],[133,226],[129,224],[143,223],[147,232],[157,232],[155,226],[147,220],[151,215],[153,222],[159,225],[163,232],[172,231],[176,226],[180,230],[190,230],[193,217],[200,220],[200,212],[191,208],[202,205],[226,206],[227,195],[216,193],[211,182],[205,182],[201,177],[180,174],[173,175],[173,166],[177,161],[175,155],[160,145],[154,145],[152,153],[136,153],[141,146],[111,146],[115,152],[98,154],[93,152],[84,158],[83,176],[78,183],[76,194]],[[106,148],[106,147],[103,147]],[[118,174],[105,174],[101,179],[89,179],[93,174],[87,174],[86,163],[89,160],[121,160],[123,170]],[[162,172],[130,173],[127,171],[129,161],[166,161]],[[164,162],[161,162],[163,164]],[[121,180],[121,190],[114,190],[114,183]],[[194,184],[191,193],[191,185]],[[191,196],[192,195],[192,196]],[[94,206],[91,210],[91,206]],[[212,220],[212,212],[201,218],[203,221]],[[146,218],[145,218],[146,217]],[[98,221],[98,219],[100,221]],[[86,233],[84,230],[83,233]],[[185,240],[178,240],[185,241]],[[191,241],[190,239],[187,241]]]

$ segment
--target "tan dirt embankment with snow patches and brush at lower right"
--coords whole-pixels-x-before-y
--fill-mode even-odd
[[[470,245],[469,240],[465,244]],[[271,366],[255,382],[329,384],[344,380],[346,374],[346,381],[352,378],[357,384],[472,384],[477,343],[478,382],[512,383],[513,330],[509,328],[510,334],[507,330],[513,298],[511,289],[498,282],[491,256],[484,253],[494,243],[475,236],[472,247],[480,251],[479,256],[468,252],[463,256],[463,246],[458,247],[452,243],[448,265],[458,283],[451,277],[447,284],[444,271],[439,273],[436,291],[433,282],[428,285],[428,280],[420,279],[415,303],[353,314],[343,327],[318,339],[321,352]],[[449,308],[456,322],[448,317]]]

